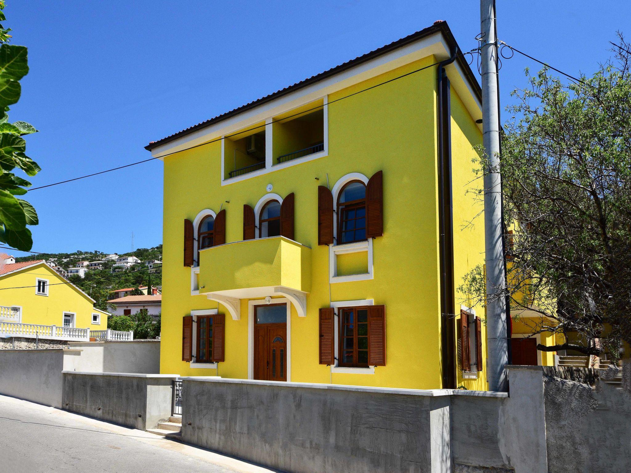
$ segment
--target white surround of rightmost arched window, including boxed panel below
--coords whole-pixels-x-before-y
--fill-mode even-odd
[[[359,180],[364,185],[368,185],[368,178],[362,173],[351,172],[338,179],[333,185],[333,242],[329,245],[329,283],[350,283],[351,281],[367,281],[374,279],[374,267],[372,263],[372,238],[366,238],[363,242],[343,243],[338,245],[338,197],[339,192],[346,184],[353,180]],[[368,253],[368,272],[360,274],[348,274],[346,276],[338,276],[338,255],[347,253]]]

